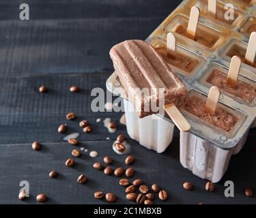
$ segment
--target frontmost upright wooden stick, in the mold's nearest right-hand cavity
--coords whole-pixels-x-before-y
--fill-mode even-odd
[[[216,111],[216,107],[218,104],[218,98],[220,97],[220,90],[218,87],[211,87],[209,93],[208,93],[208,98],[205,104],[205,112],[214,115]]]

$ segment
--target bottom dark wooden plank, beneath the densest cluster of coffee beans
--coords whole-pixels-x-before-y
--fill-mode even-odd
[[[194,176],[180,165],[178,142],[174,140],[172,146],[163,154],[149,151],[134,140],[128,140],[132,145],[132,154],[136,158],[132,165],[135,174],[132,178],[141,178],[147,186],[157,183],[161,189],[167,190],[169,199],[155,204],[255,204],[255,198],[244,196],[244,187],[248,181],[256,180],[255,146],[249,143],[239,155],[233,156],[231,165],[223,180],[216,185],[216,191],[209,193],[204,190],[206,181]],[[249,140],[252,142],[252,140]],[[35,204],[37,193],[46,193],[49,200],[46,204],[105,204],[103,200],[95,200],[94,191],[111,191],[117,196],[117,204],[134,204],[125,198],[124,187],[118,185],[119,178],[106,176],[102,171],[94,170],[95,161],[103,163],[104,155],[113,158],[113,168],[124,164],[125,156],[115,154],[111,149],[112,142],[86,141],[84,146],[89,151],[98,151],[96,158],[83,153],[82,157],[75,158],[74,168],[67,168],[65,161],[71,157],[74,146],[67,143],[44,143],[41,151],[33,151],[31,144],[10,144],[0,147],[0,204]],[[79,147],[78,146],[78,147]],[[143,155],[142,155],[143,154]],[[154,159],[154,162],[152,162]],[[246,159],[246,161],[244,161]],[[250,170],[246,170],[250,169]],[[48,177],[51,170],[57,170],[60,175],[53,179]],[[81,185],[76,182],[79,174],[88,177],[87,183]],[[239,175],[239,176],[238,176]],[[124,176],[122,176],[124,178]],[[235,198],[225,198],[224,182],[231,180],[235,183]],[[31,197],[24,202],[18,200],[20,181],[29,181]],[[190,181],[195,186],[193,191],[185,191],[184,181]],[[250,183],[252,188],[255,183]]]

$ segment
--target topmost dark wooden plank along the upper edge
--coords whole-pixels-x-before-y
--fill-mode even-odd
[[[74,18],[142,18],[167,16],[180,0],[8,0],[0,1],[1,20],[16,20],[21,3],[29,4],[32,20]]]

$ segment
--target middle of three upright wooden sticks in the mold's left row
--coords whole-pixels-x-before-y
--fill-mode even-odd
[[[190,38],[191,40],[195,40],[199,16],[200,16],[199,8],[196,6],[191,7],[190,16],[188,20],[188,29],[186,29],[186,37]]]

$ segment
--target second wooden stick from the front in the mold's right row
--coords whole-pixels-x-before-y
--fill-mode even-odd
[[[227,74],[227,84],[233,89],[236,88],[236,81],[238,80],[238,74],[240,72],[242,61],[240,57],[233,56],[229,66],[229,73]]]

